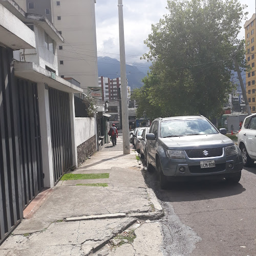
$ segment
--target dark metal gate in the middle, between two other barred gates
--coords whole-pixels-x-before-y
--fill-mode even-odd
[[[16,79],[23,208],[44,187],[37,84]]]

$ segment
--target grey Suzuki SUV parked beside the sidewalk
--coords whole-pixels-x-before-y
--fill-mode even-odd
[[[161,188],[174,177],[219,175],[237,183],[243,168],[242,153],[226,133],[203,116],[157,118],[146,135],[147,169],[158,170]]]

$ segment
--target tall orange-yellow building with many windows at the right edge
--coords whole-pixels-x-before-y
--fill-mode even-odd
[[[246,21],[244,24],[245,29],[245,49],[246,49],[246,59],[248,62],[248,65],[250,67],[250,71],[246,72],[246,95],[249,101],[251,113],[256,113],[255,107],[256,107],[256,76],[255,76],[255,57],[256,52],[254,48],[256,49],[256,20],[255,20],[255,13],[252,15],[252,17]]]

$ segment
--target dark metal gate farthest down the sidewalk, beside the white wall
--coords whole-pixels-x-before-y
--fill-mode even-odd
[[[56,183],[72,165],[69,94],[49,88],[52,159]]]

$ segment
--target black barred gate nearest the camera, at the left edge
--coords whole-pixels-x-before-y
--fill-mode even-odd
[[[0,47],[0,243],[23,218],[11,49]]]

